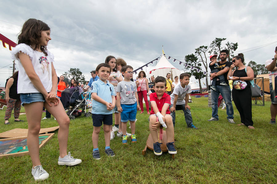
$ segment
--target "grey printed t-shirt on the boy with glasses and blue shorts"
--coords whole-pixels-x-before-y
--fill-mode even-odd
[[[118,82],[116,92],[121,93],[120,104],[134,104],[137,102],[136,94],[137,85],[132,81],[121,81]]]

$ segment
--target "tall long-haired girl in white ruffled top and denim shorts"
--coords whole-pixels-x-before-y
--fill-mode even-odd
[[[36,19],[27,20],[18,36],[18,45],[13,48],[13,59],[18,60],[18,94],[26,110],[28,121],[27,146],[32,159],[32,175],[35,180],[44,180],[49,174],[42,168],[39,159],[38,133],[43,106],[59,123],[59,165],[76,165],[80,159],[67,155],[67,140],[70,120],[57,97],[58,77],[54,69],[54,56],[46,49],[51,40],[50,28]]]

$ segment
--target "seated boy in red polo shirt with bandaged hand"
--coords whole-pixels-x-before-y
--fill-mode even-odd
[[[154,154],[162,155],[160,143],[158,142],[157,129],[160,125],[166,128],[167,132],[167,150],[170,154],[176,154],[174,146],[174,127],[172,117],[170,115],[169,106],[171,105],[170,96],[165,93],[167,81],[164,77],[157,77],[154,80],[155,93],[151,93],[151,113],[149,116],[149,130],[154,141]],[[157,121],[157,117],[159,121]]]

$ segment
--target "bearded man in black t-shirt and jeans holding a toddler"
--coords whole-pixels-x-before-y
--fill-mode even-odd
[[[220,51],[220,61],[218,62],[219,65],[219,72],[211,73],[211,79],[223,75],[225,79],[225,83],[229,83],[227,80],[227,75],[231,66],[231,62],[227,61],[227,58],[229,56],[229,51],[227,49],[224,49]],[[232,105],[231,100],[231,89],[230,86],[224,86],[220,84],[220,80],[217,79],[215,82],[215,89],[211,90],[211,107],[212,107],[212,117],[208,121],[218,121],[218,97],[219,94],[222,95],[225,103],[226,103],[226,113],[227,113],[227,119],[230,123],[235,123],[234,119],[234,109]]]

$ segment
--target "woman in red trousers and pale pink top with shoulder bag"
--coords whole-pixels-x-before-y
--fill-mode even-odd
[[[146,74],[144,71],[139,72],[139,79],[136,80],[136,84],[137,84],[137,88],[141,87],[140,91],[138,91],[139,104],[140,104],[140,108],[141,108],[140,113],[143,113],[143,98],[144,98],[147,114],[150,114],[149,113],[149,103],[147,100],[147,93],[149,92],[148,79],[146,79]]]

